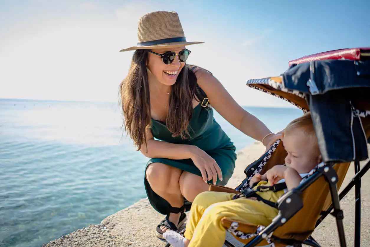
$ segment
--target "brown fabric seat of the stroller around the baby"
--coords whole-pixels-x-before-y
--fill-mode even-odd
[[[272,154],[271,161],[266,163],[263,171],[260,173],[265,173],[269,168],[276,164],[283,164],[285,158],[285,150],[280,143],[277,150]],[[261,159],[262,158],[262,159]],[[263,160],[265,155],[260,159]],[[256,163],[258,164],[258,163]],[[254,166],[256,166],[254,164]],[[348,171],[350,162],[336,164],[333,169],[336,171],[338,176],[338,189],[342,185],[344,177]],[[252,167],[249,167],[249,169]],[[238,194],[238,190],[228,190],[225,187],[211,185],[209,190],[212,191],[223,191],[229,193]],[[329,193],[329,186],[327,185],[324,177],[319,178],[313,184],[311,184],[302,193],[303,207],[298,211],[295,216],[293,216],[289,221],[287,221],[283,226],[278,227],[273,235],[269,237],[270,240],[264,239],[257,246],[266,246],[272,243],[275,239],[277,241],[285,240],[284,243],[274,243],[274,246],[287,246],[293,245],[293,243],[302,242],[304,243],[306,239],[312,234],[316,221],[319,219],[322,211],[326,211],[332,200]],[[240,242],[247,244],[253,237],[257,236],[265,226],[256,226],[249,223],[234,221],[230,218],[222,218],[222,225],[227,229],[234,237],[236,237]],[[306,244],[309,244],[306,242]]]

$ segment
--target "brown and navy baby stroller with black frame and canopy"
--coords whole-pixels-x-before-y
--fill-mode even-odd
[[[360,170],[360,161],[368,158],[367,143],[370,143],[370,47],[302,57],[290,61],[289,69],[279,77],[249,80],[247,85],[311,112],[323,162],[304,177],[297,188],[279,198],[275,205],[279,213],[269,226],[226,217],[222,218],[222,225],[245,243],[245,247],[299,247],[302,244],[320,247],[310,235],[332,214],[336,218],[340,246],[344,247],[346,238],[339,202],[355,186],[354,246],[360,246],[361,177],[370,168],[368,162]],[[210,185],[210,190],[251,193],[250,178],[284,164],[285,156],[282,143],[277,141],[246,167],[246,178],[235,190],[215,185]],[[351,161],[354,161],[355,175],[338,195]],[[277,190],[274,186],[263,189]],[[228,241],[225,245],[233,246]]]

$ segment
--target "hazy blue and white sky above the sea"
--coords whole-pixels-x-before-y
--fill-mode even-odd
[[[117,101],[139,17],[176,11],[188,62],[209,71],[242,106],[290,104],[245,83],[288,61],[370,46],[369,0],[0,0],[0,98]]]

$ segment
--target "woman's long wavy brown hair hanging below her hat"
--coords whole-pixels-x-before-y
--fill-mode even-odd
[[[124,120],[122,127],[125,127],[138,150],[142,144],[147,146],[145,130],[151,127],[149,83],[145,65],[147,58],[148,50],[136,50],[128,75],[120,84]],[[193,115],[194,96],[198,101],[206,97],[196,82],[191,66],[186,64],[171,87],[166,126],[172,137],[190,137],[188,126]]]

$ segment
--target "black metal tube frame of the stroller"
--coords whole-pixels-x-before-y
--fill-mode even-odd
[[[300,198],[300,193],[309,187],[314,181],[316,181],[320,176],[324,176],[325,180],[329,183],[330,194],[332,196],[332,204],[330,207],[322,212],[322,216],[316,221],[316,226],[324,220],[324,218],[328,214],[332,214],[336,218],[337,222],[337,229],[340,239],[340,246],[346,246],[346,238],[344,235],[344,228],[343,228],[343,211],[340,209],[339,201],[342,200],[344,196],[353,188],[355,187],[355,201],[356,201],[356,208],[355,208],[355,238],[354,238],[354,246],[360,246],[360,234],[361,234],[361,177],[369,170],[370,168],[370,161],[360,170],[360,162],[354,162],[354,169],[355,175],[350,181],[349,184],[343,189],[342,193],[338,195],[336,183],[338,181],[338,177],[336,171],[333,169],[334,163],[326,163],[322,167],[319,167],[317,171],[312,174],[305,183],[300,184],[293,190],[288,191],[285,193],[278,201],[279,204],[279,214],[273,219],[272,223],[267,226],[263,231],[261,231],[258,236],[253,238],[248,244],[244,247],[251,247],[256,246],[256,244],[260,243],[264,238],[269,236],[277,227],[282,226],[287,220],[289,220],[295,213],[297,213],[302,207],[302,199]],[[244,182],[244,181],[243,181]],[[241,183],[235,189],[238,190],[244,183]],[[288,205],[289,204],[289,205]],[[334,209],[333,213],[330,213]],[[276,237],[271,238],[275,242],[284,243],[291,246],[301,246],[302,244],[306,244],[309,246],[320,247],[320,245],[310,236],[306,241],[296,241],[292,239],[277,239]],[[225,240],[225,245],[228,247],[235,247],[231,244],[228,240]]]

